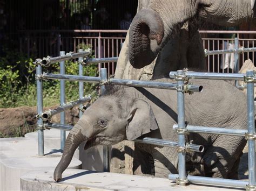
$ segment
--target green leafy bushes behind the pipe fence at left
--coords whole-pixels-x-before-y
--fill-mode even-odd
[[[77,48],[89,48],[85,44]],[[36,99],[36,66],[35,58],[26,58],[25,55],[6,50],[6,56],[0,58],[0,108],[35,106]],[[92,56],[91,56],[92,57]],[[66,61],[66,74],[78,75],[78,63]],[[59,64],[43,68],[44,72],[59,73]],[[84,67],[84,75],[98,76],[97,66]],[[77,100],[78,82],[66,81],[66,102]],[[84,83],[84,95],[90,94],[93,99],[97,97],[98,84]],[[57,80],[43,81],[44,107],[59,104],[60,82]]]

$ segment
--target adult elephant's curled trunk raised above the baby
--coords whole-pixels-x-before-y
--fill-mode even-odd
[[[140,10],[133,18],[129,32],[129,60],[134,68],[149,65],[159,52],[164,37],[164,23],[152,9]]]

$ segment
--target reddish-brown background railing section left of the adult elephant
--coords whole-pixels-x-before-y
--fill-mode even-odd
[[[37,58],[45,55],[58,56],[60,50],[77,52],[77,49],[91,48],[95,58],[110,58],[119,55],[126,30],[60,30],[26,31],[19,37],[19,49]],[[105,62],[108,74],[114,74],[116,62]]]

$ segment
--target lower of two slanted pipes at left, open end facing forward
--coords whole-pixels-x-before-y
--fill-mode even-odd
[[[73,108],[76,105],[88,102],[90,100],[91,100],[91,97],[90,96],[86,96],[86,97],[83,97],[83,98],[79,98],[76,101],[70,102],[69,104],[60,105],[56,109],[45,111],[42,114],[43,121],[50,120],[53,115],[59,114],[62,111],[65,111],[67,109]]]

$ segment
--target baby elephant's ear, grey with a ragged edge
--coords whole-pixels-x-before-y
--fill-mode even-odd
[[[128,140],[134,140],[149,133],[151,130],[158,129],[158,124],[150,104],[140,98],[137,98],[134,102],[127,121],[126,138]]]

